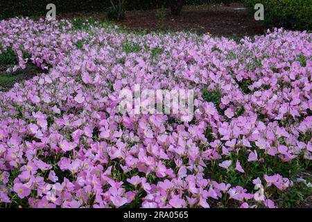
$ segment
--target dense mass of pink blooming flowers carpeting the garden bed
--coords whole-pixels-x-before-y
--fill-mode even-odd
[[[312,160],[311,33],[85,26],[0,21],[13,71],[46,69],[0,92],[2,207],[277,207],[293,185],[280,169]],[[121,114],[136,84],[193,89],[193,119]]]

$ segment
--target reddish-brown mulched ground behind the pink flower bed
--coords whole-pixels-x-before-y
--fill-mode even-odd
[[[242,3],[232,3],[230,6],[187,6],[180,16],[170,15],[167,11],[163,21],[159,21],[157,10],[130,11],[125,13],[125,19],[119,24],[132,30],[195,31],[199,34],[225,36],[265,33],[267,28],[241,8]]]

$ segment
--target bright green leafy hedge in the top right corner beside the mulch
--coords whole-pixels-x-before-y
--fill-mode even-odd
[[[264,6],[264,22],[269,26],[311,31],[311,0],[244,0],[245,6],[254,13],[254,5]]]

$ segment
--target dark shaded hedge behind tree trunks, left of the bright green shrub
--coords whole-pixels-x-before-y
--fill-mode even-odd
[[[127,10],[167,7],[170,0],[128,0]],[[188,5],[235,0],[186,0]],[[237,0],[236,0],[237,1]],[[241,1],[241,0],[238,0]],[[54,3],[58,12],[99,12],[110,7],[110,0],[0,0],[0,19],[15,16],[46,15],[46,5]]]

